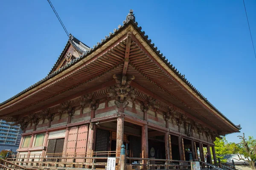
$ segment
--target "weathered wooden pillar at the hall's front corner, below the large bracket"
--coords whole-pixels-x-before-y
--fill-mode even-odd
[[[121,146],[124,141],[124,118],[117,118],[117,127],[116,127],[116,151],[121,150]],[[119,157],[120,153],[116,153],[116,157]]]

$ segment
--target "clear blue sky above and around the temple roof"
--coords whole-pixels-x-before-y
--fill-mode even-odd
[[[246,136],[256,137],[256,58],[242,0],[52,0],[67,30],[92,47],[125,20],[143,31]],[[245,0],[254,42],[256,1]],[[68,38],[47,0],[1,2],[0,102],[44,78]],[[256,44],[255,44],[256,46]],[[238,142],[239,133],[227,136]]]

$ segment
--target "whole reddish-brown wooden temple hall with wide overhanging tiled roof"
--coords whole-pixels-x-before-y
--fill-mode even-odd
[[[44,79],[0,103],[0,119],[23,129],[8,164],[36,169],[104,169],[108,157],[116,169],[186,169],[204,161],[204,147],[216,164],[215,137],[241,129],[163,56],[132,10],[91,48],[70,34]]]

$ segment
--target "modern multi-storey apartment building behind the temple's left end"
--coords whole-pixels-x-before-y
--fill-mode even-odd
[[[0,151],[12,149],[16,152],[20,144],[21,133],[20,125],[11,126],[11,123],[0,119]]]

